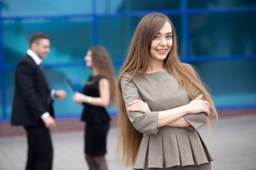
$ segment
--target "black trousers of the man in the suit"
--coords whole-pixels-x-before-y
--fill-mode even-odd
[[[24,126],[27,131],[26,170],[52,170],[53,149],[49,129],[45,126]]]

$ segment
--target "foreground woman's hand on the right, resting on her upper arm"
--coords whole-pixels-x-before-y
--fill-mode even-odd
[[[186,105],[189,114],[196,114],[204,112],[208,116],[211,115],[211,105],[209,102],[202,100],[203,95],[193,99],[189,104]]]

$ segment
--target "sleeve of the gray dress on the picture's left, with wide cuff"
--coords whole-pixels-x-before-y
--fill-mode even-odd
[[[156,135],[159,128],[157,128],[158,111],[156,112],[136,112],[128,111],[129,103],[134,100],[139,100],[141,95],[134,82],[127,77],[122,77],[121,88],[126,106],[126,112],[135,129],[141,133],[148,133]]]

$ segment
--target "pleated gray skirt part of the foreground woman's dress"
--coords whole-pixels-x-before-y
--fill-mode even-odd
[[[196,130],[164,126],[157,135],[144,134],[133,169],[197,168],[214,159]]]

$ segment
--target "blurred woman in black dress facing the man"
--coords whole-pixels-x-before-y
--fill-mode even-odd
[[[115,99],[115,77],[108,52],[102,46],[90,48],[85,56],[86,66],[92,70],[83,88],[76,92],[74,102],[84,104],[81,119],[85,124],[85,159],[90,170],[107,170],[106,137],[110,117],[104,108]]]

